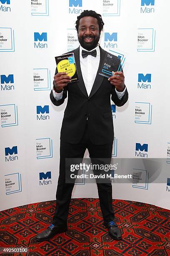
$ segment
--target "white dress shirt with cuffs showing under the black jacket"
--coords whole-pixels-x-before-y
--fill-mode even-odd
[[[80,46],[80,68],[82,72],[82,78],[85,83],[85,88],[87,90],[88,96],[90,95],[90,92],[92,90],[92,86],[95,82],[95,77],[97,74],[97,70],[100,63],[100,48],[97,46],[95,49],[97,51],[97,56],[94,57],[92,55],[88,55],[84,59],[82,58],[82,50],[87,51],[86,49],[83,49],[82,46]],[[125,87],[126,90],[126,87]],[[123,95],[125,94],[125,90],[123,92],[118,92],[116,89],[117,97],[121,99]],[[55,90],[52,90],[52,94],[55,97],[55,100],[61,100],[62,99],[62,92],[57,93]]]

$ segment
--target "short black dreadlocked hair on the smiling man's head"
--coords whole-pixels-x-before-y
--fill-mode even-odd
[[[79,21],[81,18],[85,17],[85,16],[91,16],[97,19],[98,24],[99,24],[99,31],[101,32],[103,30],[103,26],[104,26],[104,22],[102,20],[102,17],[99,13],[96,13],[93,10],[84,10],[79,16],[77,16],[77,20],[75,22],[75,28],[77,30],[78,33],[78,26],[79,26]]]

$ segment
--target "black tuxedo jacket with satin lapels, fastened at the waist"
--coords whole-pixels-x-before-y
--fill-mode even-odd
[[[92,86],[90,95],[87,95],[80,68],[79,47],[75,49],[75,63],[77,67],[78,82],[68,83],[63,88],[61,100],[55,100],[52,91],[50,99],[55,106],[60,106],[68,95],[67,106],[62,120],[60,139],[67,143],[80,142],[88,122],[90,141],[95,145],[113,142],[114,130],[110,96],[117,106],[122,106],[128,100],[128,91],[121,100],[117,97],[115,86],[110,84],[107,77],[99,75],[106,51],[100,47],[100,64]],[[120,66],[120,60],[115,56],[115,70]],[[57,74],[57,69],[55,74]]]

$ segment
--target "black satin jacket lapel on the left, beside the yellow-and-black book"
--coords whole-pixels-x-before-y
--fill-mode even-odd
[[[83,78],[82,78],[81,68],[80,68],[80,47],[75,49],[74,56],[75,56],[75,64],[76,64],[77,75],[78,75],[78,80],[79,80],[77,82],[77,85],[78,85],[79,89],[82,91],[82,93],[86,97],[88,97],[88,94],[87,94],[87,91],[86,91],[86,88],[85,88],[85,83],[84,83]]]

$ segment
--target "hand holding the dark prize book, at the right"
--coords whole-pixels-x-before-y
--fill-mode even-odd
[[[122,72],[112,72],[113,76],[109,77],[110,84],[115,85],[118,92],[122,92],[125,89],[125,77]]]

